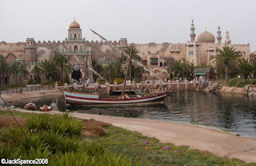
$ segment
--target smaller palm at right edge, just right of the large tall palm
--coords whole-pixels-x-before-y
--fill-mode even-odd
[[[248,59],[239,59],[237,69],[239,75],[242,75],[244,79],[248,79],[248,76],[252,73],[252,65]]]

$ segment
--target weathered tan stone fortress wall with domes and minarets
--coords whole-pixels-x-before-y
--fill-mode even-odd
[[[217,43],[215,43],[215,36],[210,32],[202,32],[197,40],[195,41],[195,27],[191,24],[191,40],[186,43],[146,43],[146,44],[134,44],[138,49],[138,55],[142,58],[142,62],[150,67],[154,73],[162,76],[162,78],[167,78],[167,68],[172,63],[174,59],[181,60],[186,58],[188,62],[193,62],[195,65],[209,64],[210,57],[216,55],[217,48],[222,48],[225,46],[230,46],[236,48],[237,51],[241,51],[244,58],[250,58],[249,43],[247,45],[231,45],[229,40],[228,31],[226,32],[225,42],[221,42],[221,31],[218,27]],[[72,40],[74,33],[79,33],[79,38]],[[125,49],[127,45],[126,38],[120,38],[120,40],[114,41],[114,45]],[[66,48],[71,48],[74,51],[74,45],[78,46],[78,50],[82,49],[82,52],[77,52],[76,55],[83,62],[86,60],[87,51],[88,54],[88,64],[92,66],[92,61],[96,60],[97,64],[106,65],[113,62],[121,56],[121,52],[118,49],[111,47],[108,43],[103,41],[88,41],[85,38],[82,39],[82,29],[80,29],[79,24],[73,21],[68,29],[68,38],[64,41],[38,41],[35,42],[34,38],[27,38],[26,42],[18,43],[6,43],[4,41],[0,42],[0,54],[6,57],[7,62],[12,62],[13,60],[20,60],[26,65],[30,76],[33,74],[31,70],[34,65],[55,57],[57,54],[65,53]],[[80,48],[81,47],[81,48]],[[71,58],[71,62],[75,62],[76,58],[72,54],[68,53],[67,56]],[[84,76],[84,67],[81,65],[82,77]],[[92,71],[88,71],[87,77],[90,80],[93,79]],[[153,79],[153,76],[147,76],[149,79]]]

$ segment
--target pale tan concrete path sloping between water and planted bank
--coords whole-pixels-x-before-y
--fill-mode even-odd
[[[18,108],[16,110],[20,112],[41,113]],[[51,110],[49,113],[61,114],[61,112],[55,110]],[[107,117],[83,113],[71,114],[73,117],[81,119],[93,118],[130,131],[137,131],[148,137],[156,137],[163,143],[170,142],[177,146],[188,145],[191,149],[209,151],[218,156],[239,158],[247,163],[256,162],[256,139],[236,136],[196,125],[162,120]]]

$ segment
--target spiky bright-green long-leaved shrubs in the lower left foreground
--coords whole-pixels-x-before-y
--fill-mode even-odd
[[[0,158],[45,158],[47,165],[132,165],[130,158],[109,153],[100,142],[82,142],[84,124],[68,113],[31,116],[26,125],[29,141],[18,128],[1,135]]]

